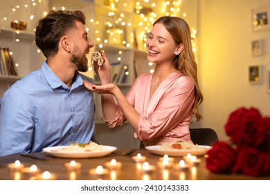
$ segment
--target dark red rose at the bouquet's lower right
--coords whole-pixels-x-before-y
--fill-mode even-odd
[[[269,152],[260,152],[255,148],[243,147],[237,150],[237,159],[233,173],[242,173],[254,177],[269,173]],[[269,175],[269,174],[268,174]]]

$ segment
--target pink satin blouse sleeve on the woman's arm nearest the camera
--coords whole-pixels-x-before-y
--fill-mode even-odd
[[[141,114],[139,133],[135,134],[135,137],[142,141],[150,141],[159,136],[166,136],[181,123],[190,121],[195,100],[194,89],[194,81],[182,76],[173,85],[156,91],[159,94],[152,96],[156,99],[151,99],[148,112]],[[152,107],[151,103],[154,103]]]

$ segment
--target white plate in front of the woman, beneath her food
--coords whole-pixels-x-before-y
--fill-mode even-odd
[[[194,155],[194,156],[202,156],[205,155],[206,152],[212,148],[211,146],[208,145],[199,145],[198,150],[162,150],[161,145],[151,145],[151,146],[146,146],[146,150],[150,150],[150,152],[156,154],[156,155],[168,155],[169,157],[183,157],[188,155]]]

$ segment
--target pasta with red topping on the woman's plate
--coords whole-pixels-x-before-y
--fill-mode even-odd
[[[201,148],[197,144],[195,145],[193,143],[186,142],[186,141],[175,141],[172,143],[163,143],[161,145],[161,149],[162,150],[201,150],[204,148]]]

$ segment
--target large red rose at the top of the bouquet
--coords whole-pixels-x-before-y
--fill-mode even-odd
[[[228,118],[225,130],[237,147],[258,147],[267,138],[269,127],[260,112],[251,107],[233,112]]]

